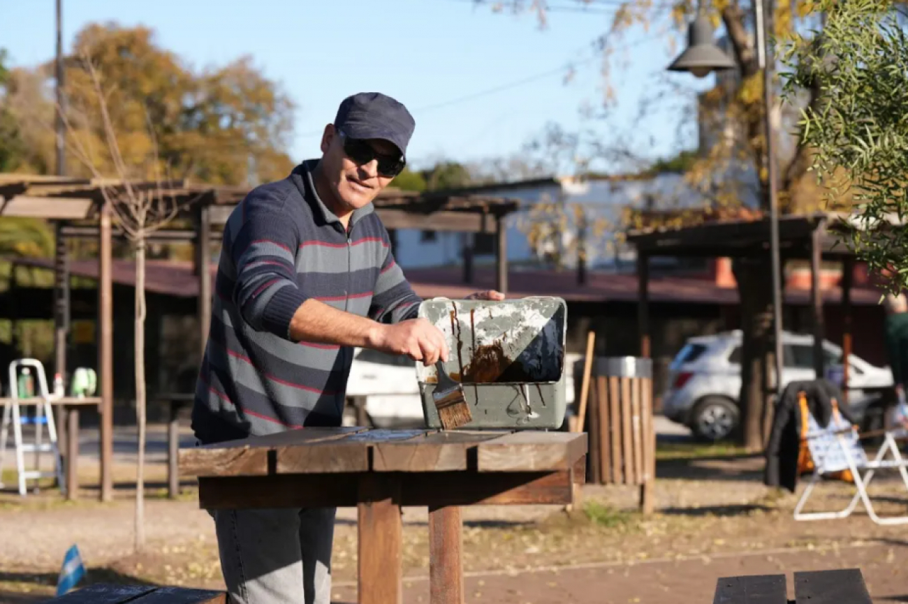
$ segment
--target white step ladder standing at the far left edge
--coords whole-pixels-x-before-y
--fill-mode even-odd
[[[18,372],[34,373],[35,383],[38,385],[38,391],[34,399],[19,398],[19,381]],[[35,416],[32,418],[22,417],[20,407],[35,407]],[[13,439],[15,442],[15,467],[19,480],[19,494],[25,497],[27,494],[25,481],[38,480],[42,478],[55,478],[60,490],[65,494],[66,482],[63,477],[63,460],[60,458],[60,449],[57,447],[56,427],[54,426],[54,411],[51,409],[50,392],[47,390],[47,377],[44,375],[44,365],[36,359],[19,359],[9,364],[9,402],[4,405],[3,427],[0,428],[0,477],[3,475],[4,461],[6,457],[6,441],[9,434],[10,424],[13,428]],[[25,443],[22,438],[22,424],[35,424],[35,441]],[[48,442],[43,442],[42,426],[47,426]],[[35,468],[25,470],[25,453],[35,453]],[[54,470],[41,471],[41,453],[52,453],[54,456]],[[0,480],[0,487],[3,482]],[[35,492],[37,492],[35,486]]]

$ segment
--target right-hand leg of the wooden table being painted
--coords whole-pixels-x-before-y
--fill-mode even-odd
[[[429,508],[429,602],[463,604],[463,520],[460,508]]]

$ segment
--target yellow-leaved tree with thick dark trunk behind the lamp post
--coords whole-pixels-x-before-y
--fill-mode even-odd
[[[593,0],[576,0],[578,4],[592,4]],[[546,3],[539,0],[510,0],[495,2],[500,7],[509,5],[515,10],[532,10],[539,15],[541,25],[546,24]],[[763,132],[763,76],[758,61],[754,38],[750,35],[750,15],[752,7],[742,0],[704,0],[700,3],[673,2],[657,3],[652,0],[627,0],[616,2],[606,31],[594,44],[602,51],[603,74],[605,75],[604,108],[611,102],[610,76],[620,66],[623,38],[635,25],[646,28],[659,28],[662,34],[671,30],[681,33],[686,24],[699,9],[714,26],[723,25],[731,54],[738,65],[737,74],[725,77],[720,85],[705,95],[703,101],[706,114],[715,118],[715,127],[724,131],[716,144],[704,153],[691,167],[687,174],[690,183],[695,184],[704,193],[706,209],[739,207],[745,192],[742,191],[740,166],[754,174],[758,205],[768,211],[768,187],[766,186],[765,136]],[[791,2],[766,3],[768,25],[776,38],[791,35],[797,29],[811,25],[818,26],[820,15],[810,11],[812,0],[792,0]],[[663,35],[671,40],[674,36]],[[675,52],[671,49],[671,52]],[[815,107],[819,90],[807,89],[804,94],[806,107]],[[783,115],[778,107],[770,110],[777,123]],[[602,114],[607,114],[603,110]],[[645,116],[643,116],[645,117]],[[605,150],[598,149],[598,153]],[[612,155],[621,154],[621,150],[612,150]],[[810,149],[804,144],[794,145],[781,165],[780,205],[788,211],[804,210],[815,207],[816,201],[809,193],[804,194],[802,183],[810,167]],[[734,170],[733,170],[734,167]],[[730,173],[731,171],[731,173]],[[745,183],[746,184],[746,183]],[[749,185],[748,185],[749,186]],[[800,195],[798,194],[800,193]],[[715,215],[716,213],[713,213]],[[706,219],[708,213],[689,214],[691,222]],[[737,282],[738,294],[742,301],[742,388],[739,402],[742,408],[743,421],[738,439],[749,450],[756,451],[763,445],[762,421],[765,417],[765,385],[770,382],[768,371],[773,366],[772,317],[772,274],[769,266],[769,254],[763,258],[735,259],[733,270]]]

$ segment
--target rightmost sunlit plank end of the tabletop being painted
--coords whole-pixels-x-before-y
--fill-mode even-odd
[[[570,470],[587,452],[587,434],[521,431],[479,443],[479,471]]]

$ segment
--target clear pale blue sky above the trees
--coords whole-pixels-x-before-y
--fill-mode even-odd
[[[471,0],[63,0],[64,49],[84,25],[115,21],[153,28],[159,45],[194,68],[251,55],[296,104],[288,151],[297,161],[318,155],[321,130],[345,96],[377,91],[414,115],[412,165],[470,162],[517,153],[547,123],[568,130],[589,124],[580,108],[604,97],[591,42],[615,10],[615,0],[592,2],[584,11],[574,0],[549,0],[554,8],[540,28],[535,15],[496,14]],[[54,0],[0,0],[0,15],[0,47],[11,64],[53,58]],[[677,52],[684,35],[674,37]],[[666,74],[672,51],[665,35],[637,27],[621,48],[630,63],[611,78],[616,104],[595,122],[597,136],[607,144],[631,132],[637,153],[676,153],[677,103],[642,124],[634,121],[637,107],[666,77],[691,90],[707,82]],[[568,64],[574,72],[565,84]],[[688,96],[681,102],[693,102]],[[681,144],[694,144],[693,137]]]

